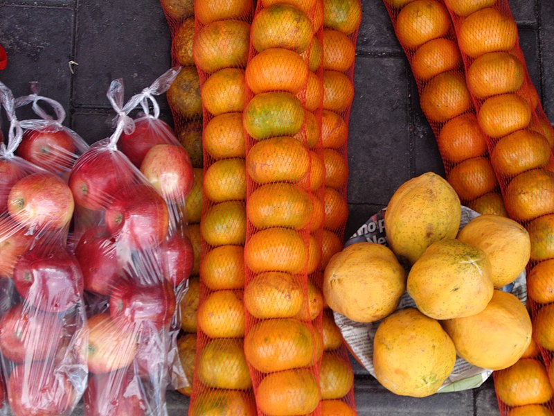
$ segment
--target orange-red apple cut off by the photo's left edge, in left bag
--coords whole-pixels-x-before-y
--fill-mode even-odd
[[[27,229],[17,225],[11,218],[0,218],[0,277],[12,277],[19,256],[26,252],[31,236]]]

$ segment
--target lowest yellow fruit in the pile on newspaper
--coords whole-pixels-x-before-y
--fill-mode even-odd
[[[385,318],[373,339],[375,377],[396,395],[434,394],[454,369],[456,349],[440,324],[417,309]]]

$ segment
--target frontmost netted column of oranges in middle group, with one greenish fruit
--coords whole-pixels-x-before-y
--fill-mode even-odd
[[[320,412],[322,23],[321,0],[265,0],[251,28],[244,348],[259,415]]]

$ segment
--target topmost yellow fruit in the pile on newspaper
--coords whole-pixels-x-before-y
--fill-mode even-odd
[[[415,263],[435,241],[454,239],[462,208],[454,189],[436,173],[404,182],[385,211],[386,238],[401,261]]]

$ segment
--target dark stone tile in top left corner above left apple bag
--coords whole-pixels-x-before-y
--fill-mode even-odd
[[[69,110],[72,10],[0,5],[0,16],[0,44],[8,53],[8,66],[0,71],[2,82],[21,96],[30,93],[28,83],[36,80],[41,94]]]

